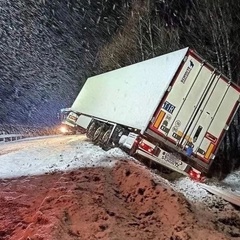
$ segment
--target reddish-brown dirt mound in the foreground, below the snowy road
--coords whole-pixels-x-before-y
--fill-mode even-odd
[[[2,240],[238,239],[127,161],[112,169],[1,180],[0,206]]]

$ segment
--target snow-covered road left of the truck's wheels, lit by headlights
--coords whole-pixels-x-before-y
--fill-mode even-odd
[[[0,178],[111,166],[114,158],[122,157],[130,159],[120,149],[103,151],[84,135],[29,138],[0,144]]]

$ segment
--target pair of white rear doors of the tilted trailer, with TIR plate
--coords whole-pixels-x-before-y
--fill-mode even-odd
[[[239,89],[189,52],[150,129],[208,165],[239,105]]]

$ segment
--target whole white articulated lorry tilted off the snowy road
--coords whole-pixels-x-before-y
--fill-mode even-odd
[[[64,122],[201,179],[239,107],[240,88],[189,48],[87,79]]]

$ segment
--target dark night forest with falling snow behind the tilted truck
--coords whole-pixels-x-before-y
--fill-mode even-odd
[[[239,10],[239,0],[1,1],[0,124],[54,126],[88,77],[187,46],[240,84]],[[237,112],[214,169],[239,167],[239,126]]]

